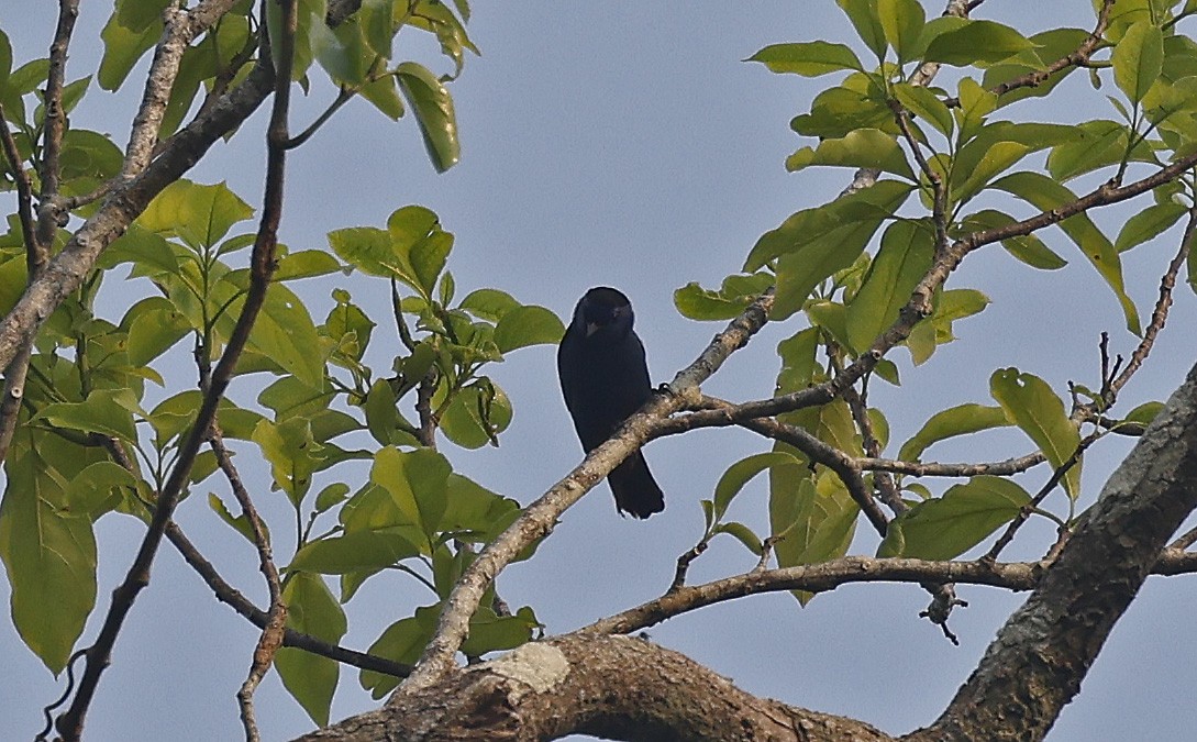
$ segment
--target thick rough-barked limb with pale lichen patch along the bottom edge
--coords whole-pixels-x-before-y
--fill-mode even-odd
[[[302,737],[315,741],[618,740],[881,742],[843,717],[761,699],[678,652],[630,637],[525,644],[493,662],[396,693],[384,708]]]

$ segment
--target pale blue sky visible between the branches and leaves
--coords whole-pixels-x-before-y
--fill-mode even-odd
[[[0,26],[13,39],[18,60],[44,54],[53,5],[0,0]],[[924,5],[929,14],[941,10],[930,1]],[[109,7],[83,4],[68,79],[95,71],[93,39]],[[1093,23],[1088,0],[1040,2],[1033,13],[1025,2],[989,0],[980,14],[1028,34]],[[457,236],[450,268],[458,293],[494,286],[567,317],[588,287],[618,286],[633,300],[654,379],[662,382],[689,363],[721,327],[680,317],[673,309],[674,288],[691,280],[717,284],[740,267],[761,232],[798,208],[830,200],[846,183],[840,171],[790,175],[783,168],[785,156],[800,145],[788,122],[807,109],[818,81],[774,75],[740,61],[768,43],[849,41],[849,26],[831,0],[476,2],[469,30],[484,56],[469,59],[451,87],[461,164],[436,175],[413,121],[393,124],[366,105],[351,104],[290,158],[282,237],[292,248],[323,247],[324,233],[333,229],[382,225],[406,203],[429,206]],[[407,55],[414,59],[435,59],[435,44],[411,30],[403,31],[399,48],[411,49]],[[436,69],[445,69],[440,60]],[[1078,107],[1082,93],[1087,83],[1077,75],[1067,99]],[[129,104],[139,95],[134,89],[119,97],[93,90],[73,121],[111,132],[123,146]],[[328,98],[326,90],[300,99],[293,127],[309,121]],[[1104,98],[1090,92],[1084,101],[1102,105]],[[1038,110],[1061,121],[1090,115],[1059,103]],[[1112,114],[1101,109],[1094,115]],[[190,177],[226,180],[247,201],[257,202],[263,126],[260,112],[232,145],[213,147]],[[1117,231],[1117,215],[1099,221]],[[873,397],[889,414],[895,442],[937,409],[986,402],[989,375],[997,367],[1017,365],[1063,389],[1068,379],[1093,383],[1101,330],[1111,333],[1117,351],[1134,347],[1132,337],[1120,329],[1117,304],[1092,268],[1058,232],[1045,238],[1073,261],[1068,268],[1035,273],[996,247],[970,257],[953,285],[980,288],[992,306],[958,323],[960,340],[925,366],[911,369],[904,352],[895,355],[904,387],[875,384]],[[1143,315],[1174,238],[1169,233],[1129,259],[1131,292]],[[317,317],[323,317],[334,285],[346,286],[377,312],[388,311],[383,282],[339,276],[306,287]],[[1186,288],[1178,290],[1178,299],[1174,322],[1191,327],[1197,303]],[[771,394],[776,343],[800,327],[796,320],[789,327],[766,328],[706,390],[728,399]],[[1161,399],[1179,383],[1192,360],[1191,333],[1185,334],[1187,339],[1165,333],[1129,388],[1126,409]],[[378,347],[375,353],[376,361],[389,363],[391,351]],[[180,363],[186,360],[186,353],[178,355]],[[445,450],[455,467],[479,482],[528,503],[579,461],[581,449],[560,401],[551,348],[516,353],[496,378],[516,408],[502,448],[466,452],[446,445]],[[607,487],[600,486],[565,515],[536,559],[504,573],[504,597],[512,606],[530,603],[549,632],[560,632],[658,595],[673,576],[676,555],[700,535],[698,500],[711,497],[727,466],[765,448],[752,434],[728,430],[651,444],[646,456],[666,489],[666,512],[644,523],[620,519]],[[1026,450],[1029,444],[1009,434],[943,445],[935,456],[994,460]],[[1124,445],[1113,443],[1089,455],[1087,503],[1124,451]],[[281,495],[267,491],[266,474],[255,470],[254,461],[255,451],[244,448],[238,463],[259,503],[268,518],[286,522],[288,509]],[[1028,486],[1037,487],[1043,476],[1037,473]],[[214,480],[199,487],[199,497],[181,506],[178,521],[226,577],[263,603],[254,555],[207,509],[208,488],[220,489]],[[733,515],[764,531],[766,494],[764,481],[754,482]],[[286,539],[288,529],[275,530]],[[1032,543],[1037,539],[1050,539],[1046,527],[1026,530],[1021,540],[1028,548],[1022,555],[1039,548]],[[102,522],[101,613],[141,531],[140,523],[119,516]],[[862,553],[876,546],[869,534],[857,541]],[[287,554],[290,547],[280,543],[279,551]],[[751,564],[737,543],[716,541],[691,574],[710,579]],[[1197,643],[1184,631],[1197,610],[1192,584],[1187,577],[1148,582],[1078,700],[1050,735],[1052,742],[1185,738],[1197,728],[1197,706],[1187,691],[1197,681]],[[971,603],[952,620],[960,647],[918,618],[926,595],[912,585],[844,588],[806,609],[788,595],[759,596],[674,619],[649,633],[751,692],[863,718],[900,734],[934,720],[1022,600],[984,588],[966,586],[960,594]],[[0,601],[7,604],[6,585],[0,586]],[[347,607],[351,632],[345,644],[365,647],[378,631],[406,615],[417,604],[413,601],[426,598],[400,577],[364,590]],[[92,622],[85,641],[95,630]],[[177,554],[164,547],[152,584],[132,612],[101,683],[87,737],[238,738],[233,694],[255,638],[256,630],[218,604]],[[7,679],[0,683],[0,737],[30,738],[41,729],[41,707],[60,687],[6,620],[0,621],[0,657]],[[358,688],[354,673],[345,675],[334,718],[376,705]],[[257,712],[267,740],[310,729],[275,675],[259,692]]]

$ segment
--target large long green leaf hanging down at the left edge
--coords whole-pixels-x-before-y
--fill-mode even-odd
[[[96,604],[96,537],[72,512],[56,472],[36,452],[10,461],[0,503],[0,559],[12,589],[12,621],[51,673],[67,664]]]

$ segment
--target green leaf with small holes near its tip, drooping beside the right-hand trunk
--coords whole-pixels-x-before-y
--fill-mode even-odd
[[[999,369],[989,379],[990,394],[1005,410],[1005,416],[1025,432],[1059,469],[1081,446],[1081,433],[1068,419],[1064,402],[1047,382],[1017,369]],[[1064,475],[1064,489],[1076,500],[1081,494],[1081,462]]]

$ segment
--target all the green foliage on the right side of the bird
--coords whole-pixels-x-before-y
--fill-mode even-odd
[[[1034,212],[1073,203],[1077,195],[1065,183],[1080,176],[1102,174],[1120,182],[1131,166],[1161,168],[1197,153],[1197,42],[1177,28],[1178,20],[1197,13],[1192,1],[1120,0],[1113,6],[1089,67],[1094,87],[1102,78],[1112,79],[1117,87],[1118,95],[1108,97],[1116,116],[1077,126],[1005,120],[999,114],[1023,98],[1051,95],[1075,66],[1034,85],[1019,85],[1017,80],[1044,73],[1057,60],[1076,53],[1089,31],[1064,28],[1027,37],[990,20],[928,20],[917,0],[837,4],[875,63],[867,65],[850,45],[827,41],[773,44],[749,61],[777,73],[840,75],[837,84],[814,97],[809,112],[792,120],[796,133],[819,142],[791,154],[786,159],[790,171],[814,165],[849,172],[868,169],[880,174],[879,180],[800,211],[766,232],[749,251],[743,273],[729,276],[718,290],[691,284],[675,294],[683,315],[724,320],[772,285],[771,318],[803,312],[810,327],[778,347],[778,394],[824,382],[837,366],[873,348],[886,348],[885,333],[898,321],[946,242],[976,239],[1014,224],[1019,202]],[[1095,8],[1101,5],[1094,2]],[[953,78],[950,89],[907,81],[924,62],[958,68],[941,73]],[[919,157],[911,147],[918,147]],[[1031,159],[1037,153],[1046,153],[1040,164]],[[1113,239],[1083,212],[1058,223],[1108,286],[1134,334],[1141,334],[1141,321],[1125,291],[1122,256],[1185,217],[1193,190],[1191,174],[1157,187]],[[918,196],[916,205],[909,203],[912,194]],[[983,195],[986,207],[977,208]],[[989,207],[1003,202],[1010,206]],[[935,213],[943,214],[938,227]],[[1009,237],[1001,244],[1037,269],[1055,270],[1068,262],[1034,233]],[[1197,259],[1192,256],[1189,276],[1197,290]],[[913,364],[926,361],[940,345],[954,339],[955,321],[983,311],[988,304],[985,294],[972,288],[937,288],[930,316],[901,341]],[[826,363],[816,361],[819,348],[826,349]],[[898,367],[888,359],[876,366],[875,376],[899,383]],[[991,387],[997,406],[962,405],[936,414],[901,446],[899,457],[918,461],[936,440],[1011,425],[1029,437],[1053,468],[1073,457],[1080,445],[1078,426],[1043,379],[1007,369],[995,372]],[[1099,401],[1096,395],[1089,396]],[[1144,406],[1126,419],[1150,419],[1156,408]],[[869,427],[883,449],[885,416],[877,409],[868,414]],[[849,455],[862,455],[861,422],[840,400],[782,419]],[[705,503],[707,531],[721,528],[735,493],[766,469],[771,476],[771,533],[785,535],[777,546],[779,564],[843,555],[852,537],[856,505],[841,482],[785,444],[728,470],[715,499]],[[1077,462],[1062,481],[1069,495],[1069,517],[1080,494],[1080,472]],[[994,476],[973,478],[941,497],[932,497],[922,485],[907,485],[900,476],[897,482],[917,497],[893,522],[880,549],[882,555],[956,556],[1031,501],[1021,486]],[[759,543],[751,531],[741,533],[740,524],[729,525],[746,545]]]

